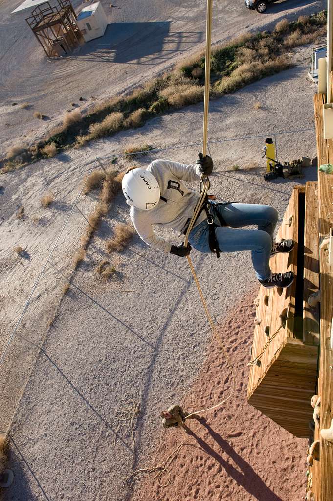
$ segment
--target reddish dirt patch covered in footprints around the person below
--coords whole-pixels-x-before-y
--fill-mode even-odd
[[[164,488],[144,478],[132,501],[299,501],[305,488],[306,440],[262,415],[246,400],[249,347],[253,338],[254,295],[245,298],[220,325],[236,372],[235,394],[225,408],[209,412],[206,423],[187,421],[193,434],[161,427],[161,440],[147,465],[156,465],[185,439],[170,465]],[[214,405],[230,388],[230,369],[214,345],[186,396],[186,410]],[[166,481],[166,476],[161,482]]]

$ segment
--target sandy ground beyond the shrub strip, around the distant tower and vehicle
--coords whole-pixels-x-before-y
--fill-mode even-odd
[[[102,0],[110,23],[105,36],[71,56],[48,60],[25,21],[30,11],[10,14],[20,3],[0,1],[0,157],[13,144],[29,145],[41,137],[73,109],[72,103],[84,112],[96,99],[131,89],[185,52],[202,48],[205,39],[205,3],[199,0],[119,0],[111,9]],[[77,12],[86,5],[73,2]],[[324,7],[322,1],[286,0],[259,15],[248,11],[243,0],[222,0],[215,3],[212,40],[270,28],[282,17],[297,18]],[[30,105],[27,109],[19,107],[24,102]],[[47,118],[34,118],[34,111]]]

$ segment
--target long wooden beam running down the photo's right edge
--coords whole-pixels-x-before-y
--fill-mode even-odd
[[[333,142],[323,139],[323,96],[314,96],[318,165],[333,162]],[[319,240],[333,226],[333,174],[318,171]],[[320,360],[319,391],[321,398],[320,428],[327,428],[333,417],[333,352],[329,349],[330,325],[333,316],[333,274],[327,264],[327,250],[319,248]],[[333,444],[320,438],[320,461],[315,479],[316,501],[329,501],[333,493]]]

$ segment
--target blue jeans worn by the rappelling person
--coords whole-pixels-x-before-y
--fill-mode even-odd
[[[252,264],[258,280],[268,279],[273,233],[278,219],[277,210],[269,205],[256,203],[213,202],[212,205],[214,211],[218,211],[227,224],[215,229],[221,252],[251,250]],[[214,221],[219,224],[216,215]],[[257,225],[258,229],[238,229],[251,224]],[[204,220],[192,229],[189,242],[200,252],[210,253],[208,234],[208,223]]]

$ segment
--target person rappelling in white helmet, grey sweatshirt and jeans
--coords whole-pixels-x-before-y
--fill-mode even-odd
[[[151,247],[185,257],[191,248],[201,253],[239,252],[251,250],[256,277],[265,288],[289,287],[292,272],[272,273],[269,260],[277,253],[289,253],[294,246],[291,239],[273,240],[278,219],[277,211],[269,205],[255,203],[220,203],[206,198],[185,246],[173,245],[158,236],[153,225],[171,227],[186,234],[199,198],[182,181],[200,180],[213,172],[210,156],[202,156],[193,165],[169,160],[154,160],[147,169],[132,168],[122,180],[122,189],[130,205],[130,217],[140,238]],[[256,225],[258,229],[243,229]]]

